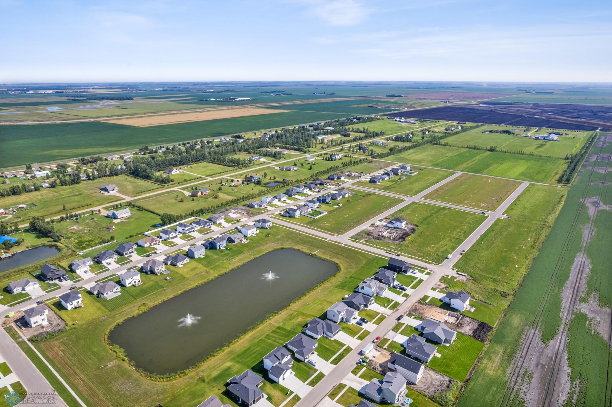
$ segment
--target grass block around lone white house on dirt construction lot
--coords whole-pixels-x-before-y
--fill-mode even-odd
[[[409,222],[414,224],[416,232],[400,242],[373,239],[367,230],[352,238],[435,263],[441,263],[485,221],[483,215],[422,202],[412,202],[388,218],[405,218],[406,226]]]

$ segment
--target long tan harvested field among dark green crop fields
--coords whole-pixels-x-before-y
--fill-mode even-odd
[[[151,127],[167,124],[201,122],[203,120],[230,119],[231,117],[257,116],[259,114],[282,113],[281,109],[239,108],[225,110],[211,110],[204,112],[189,112],[166,114],[163,116],[130,117],[129,119],[105,120],[108,123],[117,123],[136,127]]]

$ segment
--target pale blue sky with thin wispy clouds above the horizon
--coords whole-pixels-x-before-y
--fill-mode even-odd
[[[0,82],[612,81],[612,2],[0,0]]]

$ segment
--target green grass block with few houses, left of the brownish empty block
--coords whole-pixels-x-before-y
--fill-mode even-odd
[[[394,177],[390,180],[382,181],[379,184],[370,183],[368,181],[359,181],[355,185],[363,186],[365,188],[381,189],[383,191],[395,194],[412,196],[453,175],[453,173],[450,171],[418,166],[411,166],[411,170],[417,171],[419,174],[408,176],[401,181],[399,178]]]

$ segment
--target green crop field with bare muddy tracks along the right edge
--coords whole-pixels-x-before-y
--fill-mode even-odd
[[[593,147],[591,152],[610,153],[612,149],[609,144],[603,147],[599,145]],[[602,248],[604,245],[610,246],[610,234],[606,231],[597,239],[594,236],[589,239],[585,234],[589,230],[585,226],[589,224],[591,216],[594,216],[595,233],[597,228],[609,230],[611,217],[607,209],[600,209],[595,215],[595,212],[587,210],[588,201],[584,202],[585,198],[600,197],[601,205],[610,205],[610,196],[607,195],[610,186],[602,185],[605,175],[591,171],[592,166],[603,168],[605,165],[609,163],[595,161],[584,164],[574,185],[565,191],[565,204],[551,225],[550,233],[543,241],[539,254],[535,256],[534,252],[533,265],[524,277],[523,284],[499,325],[497,334],[491,340],[482,363],[466,387],[459,406],[469,406],[475,400],[498,404],[502,402],[502,397],[508,400],[509,405],[517,405],[521,394],[529,389],[535,389],[535,394],[529,392],[531,398],[542,397],[547,383],[558,384],[554,389],[551,387],[553,403],[563,404],[564,398],[570,397],[570,400],[575,400],[573,403],[569,401],[570,404],[584,407],[600,405],[602,400],[609,396],[610,383],[606,381],[606,376],[612,373],[608,362],[610,348],[606,343],[609,331],[608,328],[602,328],[602,324],[609,323],[612,312],[610,304],[602,302],[598,296],[599,293],[604,297],[608,296],[610,279],[606,262],[609,261],[610,255]],[[583,269],[586,275],[580,276],[578,273],[582,270],[577,265],[583,264],[578,263],[578,260],[583,259],[583,248],[586,249],[588,260]],[[574,287],[581,279],[586,279],[586,287],[578,286],[583,290],[577,292],[578,301],[572,304],[569,292],[565,289],[566,284],[567,287]],[[548,287],[548,284],[551,286]],[[562,321],[562,310],[572,305],[575,306],[573,316],[570,315],[569,320]],[[523,345],[524,332],[538,318],[541,319],[536,325],[532,351],[537,353],[545,347],[559,349],[560,357],[567,357],[567,368],[559,372],[559,376],[553,375],[550,382],[548,374],[540,374],[533,378],[529,376],[529,383],[523,372],[528,372],[526,374],[529,375],[537,370],[531,361],[527,361],[518,372],[520,378],[517,383],[510,382],[509,391],[504,392],[509,383],[504,372],[513,369],[510,362],[515,360],[515,355]],[[559,343],[558,334],[564,329],[563,326],[567,329],[567,343]],[[550,353],[547,358],[553,358],[555,354]],[[537,363],[537,360],[534,363]],[[569,381],[565,381],[566,374]],[[580,386],[577,386],[579,380]],[[564,389],[570,390],[569,395]]]

